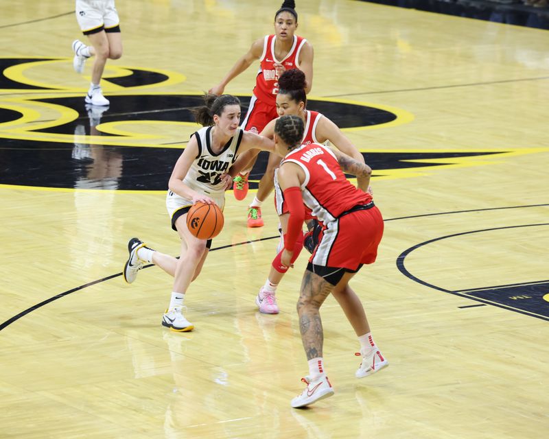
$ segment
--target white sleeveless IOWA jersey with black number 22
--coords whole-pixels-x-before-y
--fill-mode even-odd
[[[236,160],[244,131],[238,128],[221,152],[215,154],[211,150],[212,128],[211,126],[200,128],[193,134],[198,142],[198,156],[196,156],[187,175],[183,178],[183,182],[199,193],[223,196],[224,188],[221,176],[229,170]]]

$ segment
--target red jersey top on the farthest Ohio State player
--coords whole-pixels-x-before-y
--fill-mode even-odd
[[[299,52],[307,42],[305,38],[294,35],[294,44],[283,60],[274,57],[274,42],[276,35],[266,35],[263,45],[263,54],[259,58],[259,71],[255,80],[253,94],[263,102],[269,102],[273,106],[279,92],[279,78],[274,64],[282,64],[286,70],[299,69]]]

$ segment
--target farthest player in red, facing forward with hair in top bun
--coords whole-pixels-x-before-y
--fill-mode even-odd
[[[294,35],[297,29],[297,12],[295,1],[286,0],[282,7],[274,15],[274,34],[255,40],[252,47],[242,58],[237,60],[229,73],[222,81],[210,88],[209,93],[222,95],[224,89],[233,78],[248,69],[250,65],[259,60],[255,87],[253,89],[250,106],[242,127],[246,131],[261,132],[268,122],[277,117],[275,98],[279,86],[280,75],[291,69],[300,69],[305,73],[307,80],[306,92],[312,88],[313,82],[313,48],[310,43],[301,36]],[[248,193],[248,172],[255,163],[250,163],[248,169],[235,178],[233,191],[237,200],[244,200]],[[262,226],[261,209],[248,212],[248,217],[254,219],[250,226]]]

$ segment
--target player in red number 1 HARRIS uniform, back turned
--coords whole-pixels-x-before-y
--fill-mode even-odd
[[[383,218],[374,205],[369,182],[371,169],[339,151],[318,143],[301,145],[303,120],[282,116],[274,126],[274,144],[283,156],[278,185],[290,209],[281,265],[290,267],[296,241],[303,236],[304,205],[323,233],[309,259],[297,302],[301,339],[309,362],[307,388],[292,399],[304,407],[334,394],[323,366],[323,329],[320,306],[331,293],[344,310],[360,341],[362,363],[356,377],[366,377],[388,362],[373,341],[364,307],[349,286],[362,264],[373,263],[383,235]],[[357,187],[343,171],[357,176]]]

